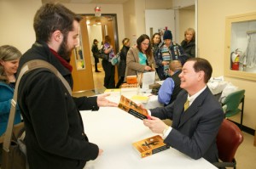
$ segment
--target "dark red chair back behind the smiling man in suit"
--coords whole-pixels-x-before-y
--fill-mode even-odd
[[[223,162],[235,159],[236,149],[243,141],[241,130],[235,123],[224,119],[217,135],[218,158]]]

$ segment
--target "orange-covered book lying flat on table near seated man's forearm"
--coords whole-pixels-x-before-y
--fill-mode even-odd
[[[159,153],[160,151],[170,148],[170,146],[164,143],[164,140],[160,137],[160,135],[145,138],[133,143],[132,146],[142,158],[149,155],[154,155],[155,153]]]

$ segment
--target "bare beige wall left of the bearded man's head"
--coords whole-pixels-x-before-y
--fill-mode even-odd
[[[22,54],[31,48],[36,40],[33,17],[41,5],[40,0],[1,0],[0,46],[13,45]]]

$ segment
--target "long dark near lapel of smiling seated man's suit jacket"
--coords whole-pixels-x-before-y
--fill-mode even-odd
[[[193,117],[199,110],[199,108],[201,107],[201,104],[203,103],[203,101],[205,100],[205,98],[207,97],[207,94],[209,93],[209,89],[208,87],[194,100],[194,102],[189,106],[189,108],[181,113],[180,116],[180,122],[178,124],[178,127],[182,127],[183,124],[186,121],[189,121],[189,119],[191,117]],[[183,100],[183,103],[186,102],[186,99]]]

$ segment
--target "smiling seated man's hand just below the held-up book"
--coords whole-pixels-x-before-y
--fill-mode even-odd
[[[161,121],[159,118],[150,116],[151,120],[144,119],[143,124],[148,127],[154,133],[163,133],[166,128],[166,123]]]

